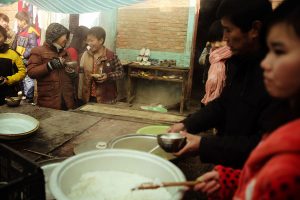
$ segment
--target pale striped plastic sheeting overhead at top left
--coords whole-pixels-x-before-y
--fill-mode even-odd
[[[144,0],[26,0],[41,10],[56,13],[89,13],[117,9]]]

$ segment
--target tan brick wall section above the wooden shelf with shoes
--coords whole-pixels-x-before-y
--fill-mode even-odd
[[[119,9],[117,48],[183,53],[189,0],[146,0]]]

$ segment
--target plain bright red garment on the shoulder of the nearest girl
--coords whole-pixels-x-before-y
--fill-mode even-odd
[[[277,129],[255,148],[234,199],[300,199],[300,119]]]

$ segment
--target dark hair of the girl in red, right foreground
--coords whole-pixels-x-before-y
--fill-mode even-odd
[[[273,12],[269,19],[269,29],[279,23],[285,23],[292,27],[298,37],[300,37],[300,2],[299,0],[285,0]]]

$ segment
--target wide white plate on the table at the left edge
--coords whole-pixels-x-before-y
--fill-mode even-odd
[[[0,138],[17,139],[25,137],[39,128],[39,121],[20,113],[0,114]]]

